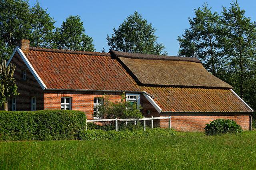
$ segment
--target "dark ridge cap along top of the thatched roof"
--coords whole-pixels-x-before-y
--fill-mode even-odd
[[[130,52],[115,51],[115,50],[110,50],[109,53],[113,58],[124,57],[124,58],[131,58],[131,59],[189,61],[189,62],[201,63],[201,61],[196,57],[178,57],[178,56],[168,56],[168,55],[130,53]]]

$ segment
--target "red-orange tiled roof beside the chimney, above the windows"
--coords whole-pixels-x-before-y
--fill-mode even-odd
[[[139,91],[109,53],[32,47],[24,53],[48,89]]]

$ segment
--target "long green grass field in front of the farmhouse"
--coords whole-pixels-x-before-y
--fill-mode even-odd
[[[0,142],[0,169],[256,169],[256,131],[223,136]]]

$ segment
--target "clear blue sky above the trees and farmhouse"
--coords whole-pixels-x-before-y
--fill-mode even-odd
[[[36,0],[29,0],[34,5]],[[188,17],[194,16],[194,8],[207,2],[212,11],[221,12],[222,6],[229,7],[231,0],[39,0],[40,5],[56,21],[59,27],[70,15],[79,15],[84,22],[85,33],[93,38],[96,51],[103,47],[108,51],[106,36],[113,33],[127,16],[138,11],[157,29],[158,42],[166,46],[169,55],[178,53],[178,36],[189,28]],[[256,1],[238,0],[246,16],[256,20]]]

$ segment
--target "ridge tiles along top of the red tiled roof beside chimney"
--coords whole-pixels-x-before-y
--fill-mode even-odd
[[[110,56],[110,53],[101,53],[101,52],[92,52],[92,51],[75,51],[75,50],[68,50],[68,49],[52,49],[52,48],[40,48],[40,47],[29,47],[29,49],[34,51],[47,51],[47,52],[55,52],[55,53]]]

